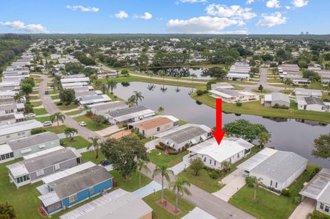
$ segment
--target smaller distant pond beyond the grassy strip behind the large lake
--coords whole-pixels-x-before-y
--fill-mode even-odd
[[[210,80],[210,76],[202,76],[203,68],[185,68],[185,67],[170,67],[170,68],[151,68],[151,69],[138,69],[141,73],[153,73],[158,75],[158,71],[162,70],[166,76],[176,77],[179,75],[181,78],[190,78],[190,73],[195,73],[198,80]]]

